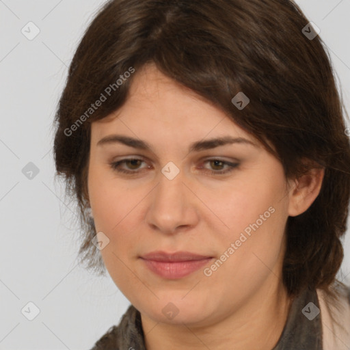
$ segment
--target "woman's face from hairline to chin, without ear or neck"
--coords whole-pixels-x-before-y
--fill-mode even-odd
[[[135,74],[118,113],[92,124],[88,191],[96,232],[103,232],[100,253],[142,314],[204,325],[282,286],[290,196],[282,164],[154,66]],[[206,143],[219,137],[246,142]],[[125,159],[138,160],[113,168]],[[154,263],[159,274],[142,258],[154,251],[208,259]]]

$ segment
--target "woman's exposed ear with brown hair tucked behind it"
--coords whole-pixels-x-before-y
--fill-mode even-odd
[[[289,193],[288,215],[297,216],[308,210],[319,196],[324,175],[324,167],[314,167],[308,174],[294,180],[295,186]]]

